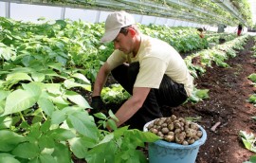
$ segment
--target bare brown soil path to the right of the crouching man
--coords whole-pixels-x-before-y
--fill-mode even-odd
[[[196,163],[242,163],[253,154],[247,151],[239,138],[239,131],[249,133],[256,129],[256,109],[247,103],[255,90],[247,76],[254,73],[255,59],[251,57],[251,47],[255,45],[250,38],[245,49],[238,51],[235,58],[229,59],[229,68],[213,65],[196,80],[196,87],[210,89],[210,99],[197,104],[185,104],[172,112],[180,117],[201,117],[198,123],[208,134],[206,143],[200,147]],[[221,124],[215,132],[210,128]]]

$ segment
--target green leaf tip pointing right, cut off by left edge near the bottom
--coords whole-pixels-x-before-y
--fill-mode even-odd
[[[8,130],[0,130],[0,151],[9,152],[14,149],[19,143],[26,140],[25,137],[20,136]]]

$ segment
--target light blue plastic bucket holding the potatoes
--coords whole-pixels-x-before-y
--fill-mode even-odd
[[[147,126],[154,120],[144,125],[144,132],[147,132]],[[191,145],[181,145],[164,140],[157,140],[149,143],[149,162],[150,163],[194,163],[199,151],[207,139],[206,131],[198,125],[203,136]]]

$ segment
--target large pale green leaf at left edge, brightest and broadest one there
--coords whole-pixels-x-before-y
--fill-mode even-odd
[[[1,116],[24,111],[32,107],[37,100],[38,95],[33,95],[30,91],[15,90],[7,97],[5,112]]]

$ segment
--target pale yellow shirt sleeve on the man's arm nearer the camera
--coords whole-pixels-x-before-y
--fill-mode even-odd
[[[159,58],[147,58],[140,62],[139,72],[134,87],[158,89],[165,74],[167,63]]]

